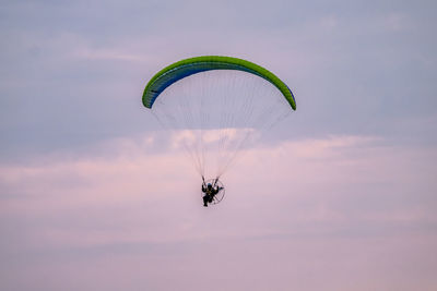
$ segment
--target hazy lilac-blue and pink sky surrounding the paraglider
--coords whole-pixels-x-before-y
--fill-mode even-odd
[[[1,290],[437,290],[435,1],[0,1]],[[297,110],[200,179],[141,104],[184,58]]]

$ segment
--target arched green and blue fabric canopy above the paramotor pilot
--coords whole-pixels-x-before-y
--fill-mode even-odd
[[[246,60],[221,56],[185,59],[164,68],[145,86],[142,98],[143,105],[146,108],[152,108],[160,94],[173,83],[186,76],[211,70],[238,70],[258,75],[273,84],[284,95],[293,110],[296,110],[296,101],[292,90],[272,72]]]

